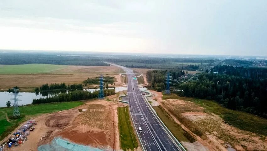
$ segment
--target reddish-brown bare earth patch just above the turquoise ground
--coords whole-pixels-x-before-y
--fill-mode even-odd
[[[108,145],[104,131],[64,131],[59,135],[64,138],[68,138],[74,143],[83,145],[90,145],[94,147]]]

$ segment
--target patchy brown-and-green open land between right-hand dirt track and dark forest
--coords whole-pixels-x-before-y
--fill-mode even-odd
[[[240,151],[267,149],[266,119],[226,109],[210,100],[175,94],[162,99],[162,107],[211,150],[225,150],[227,144]]]

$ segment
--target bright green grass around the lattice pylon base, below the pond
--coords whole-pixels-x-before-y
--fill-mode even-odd
[[[83,102],[75,101],[75,102],[47,103],[47,104],[20,106],[19,107],[20,114],[25,116],[17,120],[10,119],[10,122],[7,121],[5,114],[7,114],[8,116],[13,115],[13,108],[12,107],[0,108],[0,140],[2,140],[9,133],[14,131],[14,129],[17,128],[20,123],[29,120],[33,116],[44,113],[52,113],[65,109],[71,109],[82,104]]]

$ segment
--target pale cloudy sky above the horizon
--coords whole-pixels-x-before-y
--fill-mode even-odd
[[[0,49],[267,56],[267,1],[1,0]]]

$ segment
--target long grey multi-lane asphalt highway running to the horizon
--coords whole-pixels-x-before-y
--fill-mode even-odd
[[[109,63],[111,64],[111,63]],[[139,140],[145,151],[185,151],[177,140],[164,129],[159,117],[149,108],[144,96],[139,90],[136,76],[132,70],[117,65],[126,71],[128,79],[128,98],[131,117],[135,126],[141,127],[143,132],[137,131]]]

